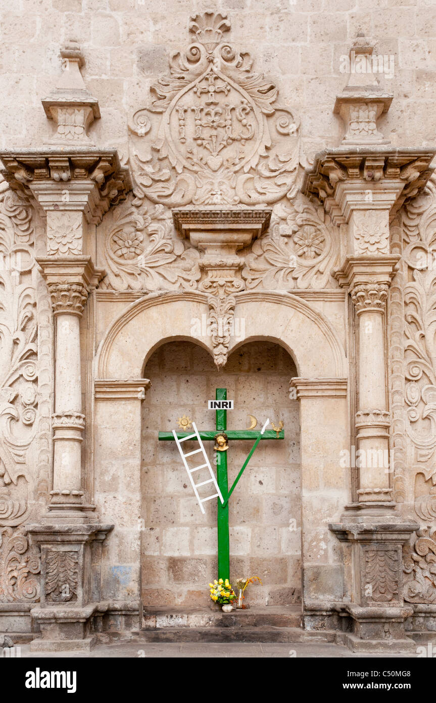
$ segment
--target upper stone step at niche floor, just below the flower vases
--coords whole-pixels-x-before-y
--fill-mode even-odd
[[[174,628],[298,628],[301,624],[300,606],[253,607],[249,610],[147,608],[143,614],[143,630]]]

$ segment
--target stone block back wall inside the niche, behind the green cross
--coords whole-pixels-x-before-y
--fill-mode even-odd
[[[245,429],[251,414],[258,427],[267,417],[284,420],[285,431],[284,441],[260,442],[230,498],[230,578],[260,576],[264,585],[250,588],[251,603],[298,602],[299,419],[298,401],[289,399],[289,380],[296,375],[289,354],[276,344],[252,342],[239,347],[218,373],[200,347],[171,342],[153,354],[144,374],[152,382],[143,401],[144,605],[206,605],[207,584],[216,578],[216,501],[205,503],[202,515],[177,447],[157,439],[159,430],[176,429],[183,414],[199,429],[213,430],[215,412],[207,409],[207,401],[216,387],[226,387],[234,400],[227,429]],[[191,451],[197,449],[189,444]],[[250,449],[248,441],[230,444],[229,487]],[[206,442],[206,450],[213,465],[213,443]]]

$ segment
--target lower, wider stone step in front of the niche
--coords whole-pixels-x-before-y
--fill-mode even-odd
[[[299,627],[167,627],[142,630],[144,642],[335,642],[336,632],[307,632]]]

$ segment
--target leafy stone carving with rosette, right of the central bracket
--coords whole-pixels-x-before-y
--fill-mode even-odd
[[[331,269],[339,254],[338,233],[322,207],[303,199],[280,202],[271,234],[253,244],[242,278],[251,288],[325,288],[336,285]]]

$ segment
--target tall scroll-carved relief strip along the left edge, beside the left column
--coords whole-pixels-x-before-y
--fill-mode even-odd
[[[28,522],[37,499],[29,449],[38,434],[33,452],[38,463],[44,422],[33,247],[32,209],[0,177],[0,602],[39,598],[38,553],[18,527]],[[48,454],[44,458],[47,470]]]

